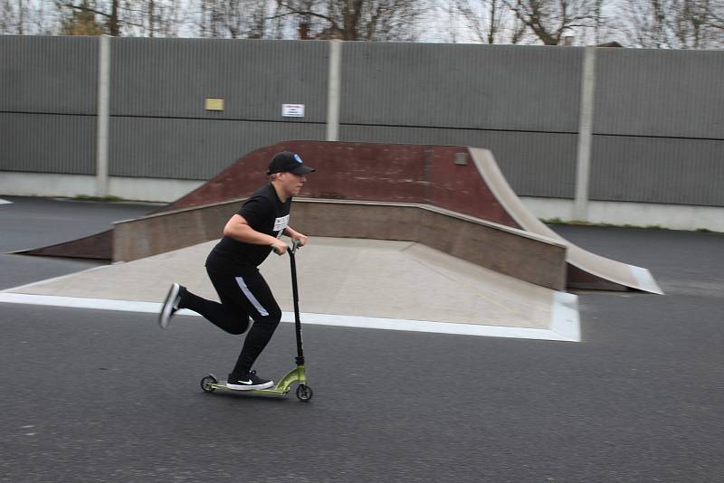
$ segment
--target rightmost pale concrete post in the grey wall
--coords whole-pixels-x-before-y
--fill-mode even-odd
[[[590,185],[591,149],[593,145],[595,102],[595,47],[586,47],[581,80],[578,150],[576,156],[576,199],[573,205],[575,220],[588,219],[588,187]]]

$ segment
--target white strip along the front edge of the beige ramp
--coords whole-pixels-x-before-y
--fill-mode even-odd
[[[562,293],[562,292],[559,292]],[[462,336],[512,337],[523,339],[557,340],[578,342],[580,337],[576,296],[564,294],[561,300],[554,300],[551,327],[554,330],[526,327],[496,327],[476,324],[457,324],[451,322],[432,322],[428,320],[405,320],[398,318],[352,317],[329,314],[300,314],[303,324],[336,327],[361,327],[386,330],[405,330],[413,332],[432,332],[436,334],[455,334]],[[18,293],[0,293],[0,302],[11,304],[42,305],[68,308],[94,308],[100,310],[119,310],[157,314],[161,304],[157,302],[134,302],[127,300],[110,300],[104,298],[56,297],[49,295],[28,295]],[[182,309],[179,315],[198,316],[195,312]],[[557,320],[560,318],[560,320]],[[282,322],[294,322],[292,312],[283,312]],[[575,326],[575,327],[574,327]],[[561,330],[557,332],[556,330]]]

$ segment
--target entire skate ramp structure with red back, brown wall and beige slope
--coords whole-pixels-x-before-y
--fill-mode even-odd
[[[214,227],[238,206],[234,198],[259,184],[254,177],[270,153],[282,150],[319,166],[317,186],[299,198],[294,217],[301,232],[322,236],[300,259],[307,323],[579,341],[576,296],[565,289],[662,293],[648,270],[584,251],[538,222],[489,151],[291,141],[243,156],[194,192],[112,232],[25,251],[128,263],[14,289],[3,300],[130,309],[157,302],[176,280],[213,297],[199,268],[218,238]],[[363,163],[360,180],[352,173]],[[336,199],[319,198],[325,193]],[[285,286],[283,264],[268,265]],[[289,298],[281,303],[291,309]]]

